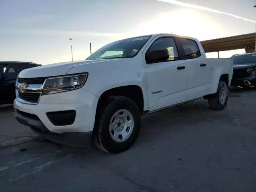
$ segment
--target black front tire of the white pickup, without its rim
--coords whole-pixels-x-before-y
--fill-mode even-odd
[[[134,126],[130,136],[126,140],[116,142],[110,135],[110,120],[121,109],[128,110],[132,114]],[[121,96],[109,98],[108,104],[103,109],[99,121],[98,126],[94,128],[94,144],[105,152],[116,154],[128,150],[137,140],[140,133],[140,110],[130,98]]]

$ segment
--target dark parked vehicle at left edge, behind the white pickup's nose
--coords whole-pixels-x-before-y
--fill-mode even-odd
[[[0,104],[13,103],[18,74],[27,68],[41,66],[32,62],[0,61]]]

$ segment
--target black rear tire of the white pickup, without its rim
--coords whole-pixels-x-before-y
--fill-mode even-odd
[[[225,100],[223,100],[223,102],[220,102],[220,92],[222,90],[225,90],[226,98]],[[219,82],[215,97],[208,99],[208,103],[210,105],[210,108],[213,110],[223,110],[224,108],[226,108],[226,105],[228,103],[228,86],[224,81]]]

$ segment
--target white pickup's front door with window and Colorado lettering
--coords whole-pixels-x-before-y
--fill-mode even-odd
[[[146,64],[149,108],[186,99],[186,66],[183,60],[179,60],[174,38],[166,36],[156,39],[148,51],[156,50],[167,50],[169,58]]]

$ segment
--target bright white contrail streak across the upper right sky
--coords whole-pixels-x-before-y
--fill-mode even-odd
[[[177,1],[177,0],[157,0],[157,1],[166,2],[166,3],[170,3],[170,4],[174,4],[174,5],[188,7],[188,8],[194,8],[194,9],[214,12],[214,13],[218,13],[218,14],[224,14],[224,15],[228,15],[228,16],[231,16],[231,17],[234,17],[234,18],[238,18],[238,19],[242,19],[242,20],[245,20],[245,21],[250,21],[250,22],[256,23],[256,21],[250,20],[250,19],[247,19],[247,18],[244,18],[244,17],[240,17],[240,16],[237,16],[237,15],[233,15],[233,14],[230,14],[230,13],[223,12],[223,11],[218,11],[218,10],[211,9],[211,8],[208,8],[208,7],[203,7],[203,6],[198,6],[198,5],[194,5],[194,4],[180,2],[180,1]]]

